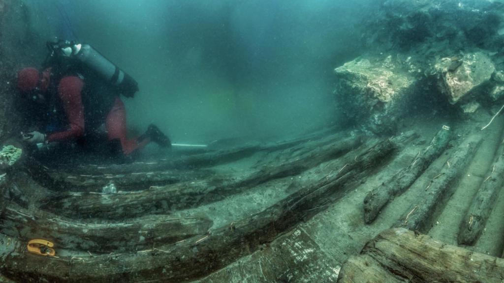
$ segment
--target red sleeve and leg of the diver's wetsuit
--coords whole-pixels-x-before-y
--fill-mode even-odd
[[[45,70],[41,81],[41,88],[47,89],[50,69]],[[57,93],[61,99],[61,104],[67,114],[69,128],[65,131],[55,132],[47,136],[48,142],[57,142],[68,140],[84,135],[84,105],[82,103],[81,93],[84,82],[75,76],[64,77],[59,81]],[[120,140],[122,151],[128,155],[134,150],[144,147],[150,139],[146,138],[141,143],[137,143],[136,138],[128,139],[126,130],[126,111],[124,104],[117,97],[114,105],[107,114],[105,126],[108,139]]]

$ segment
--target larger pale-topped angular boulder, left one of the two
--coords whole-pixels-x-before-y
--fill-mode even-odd
[[[335,69],[336,95],[343,114],[374,132],[393,130],[398,107],[415,79],[400,64],[385,58],[357,58]]]

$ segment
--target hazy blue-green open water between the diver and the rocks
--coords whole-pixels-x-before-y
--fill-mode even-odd
[[[28,3],[42,37],[65,34],[64,10],[81,42],[139,82],[125,101],[132,131],[154,122],[183,143],[336,123],[332,71],[357,54],[366,14],[364,1]]]

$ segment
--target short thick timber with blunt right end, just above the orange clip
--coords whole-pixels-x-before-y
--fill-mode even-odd
[[[41,238],[59,248],[97,253],[136,251],[204,235],[212,221],[201,217],[135,219],[125,223],[83,223],[43,211],[9,205],[0,214],[0,233],[24,242]]]

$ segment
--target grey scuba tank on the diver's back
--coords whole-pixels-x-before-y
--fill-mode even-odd
[[[91,70],[125,97],[134,97],[139,90],[135,79],[89,44],[61,40],[47,42],[47,48],[49,54],[45,60],[45,66],[57,65],[61,73],[66,73],[69,69],[84,70],[84,72],[86,69]]]

